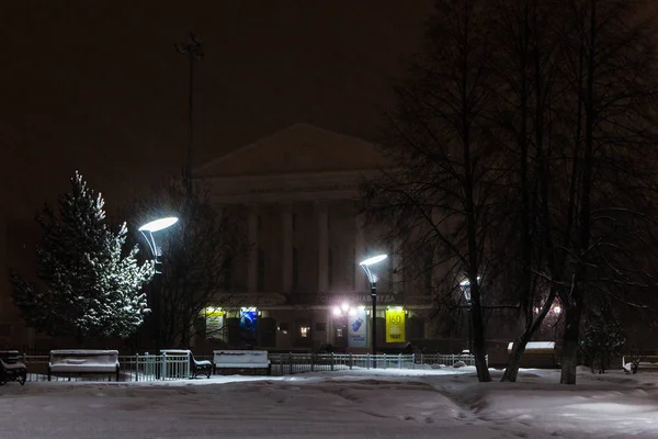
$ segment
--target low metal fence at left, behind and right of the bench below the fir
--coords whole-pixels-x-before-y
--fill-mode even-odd
[[[27,381],[47,381],[49,356],[21,356]],[[190,378],[189,353],[120,356],[120,381],[168,381]],[[53,381],[98,381],[98,376],[53,376]]]

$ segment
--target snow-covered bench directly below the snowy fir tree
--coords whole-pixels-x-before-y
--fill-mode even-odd
[[[52,350],[48,381],[53,375],[111,374],[118,381],[117,350]]]

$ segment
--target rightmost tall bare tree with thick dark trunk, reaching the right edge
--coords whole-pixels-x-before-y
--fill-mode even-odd
[[[551,250],[563,261],[552,277],[565,307],[566,384],[576,382],[581,318],[591,296],[631,304],[626,294],[654,285],[649,258],[637,252],[654,241],[658,139],[655,26],[638,21],[642,8],[635,1],[582,0],[569,2],[565,14],[569,37],[556,121],[564,140],[551,169],[554,182],[569,190],[547,202],[552,224],[545,226],[561,232]]]

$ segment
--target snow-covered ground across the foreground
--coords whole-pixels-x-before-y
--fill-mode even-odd
[[[500,371],[491,371],[500,379]],[[0,438],[658,438],[658,373],[473,368],[0,387]]]

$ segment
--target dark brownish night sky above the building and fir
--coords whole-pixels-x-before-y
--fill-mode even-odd
[[[390,76],[418,50],[431,0],[5,0],[0,145],[5,217],[31,218],[79,169],[107,204],[178,172],[186,63],[200,165],[297,122],[372,138]]]

